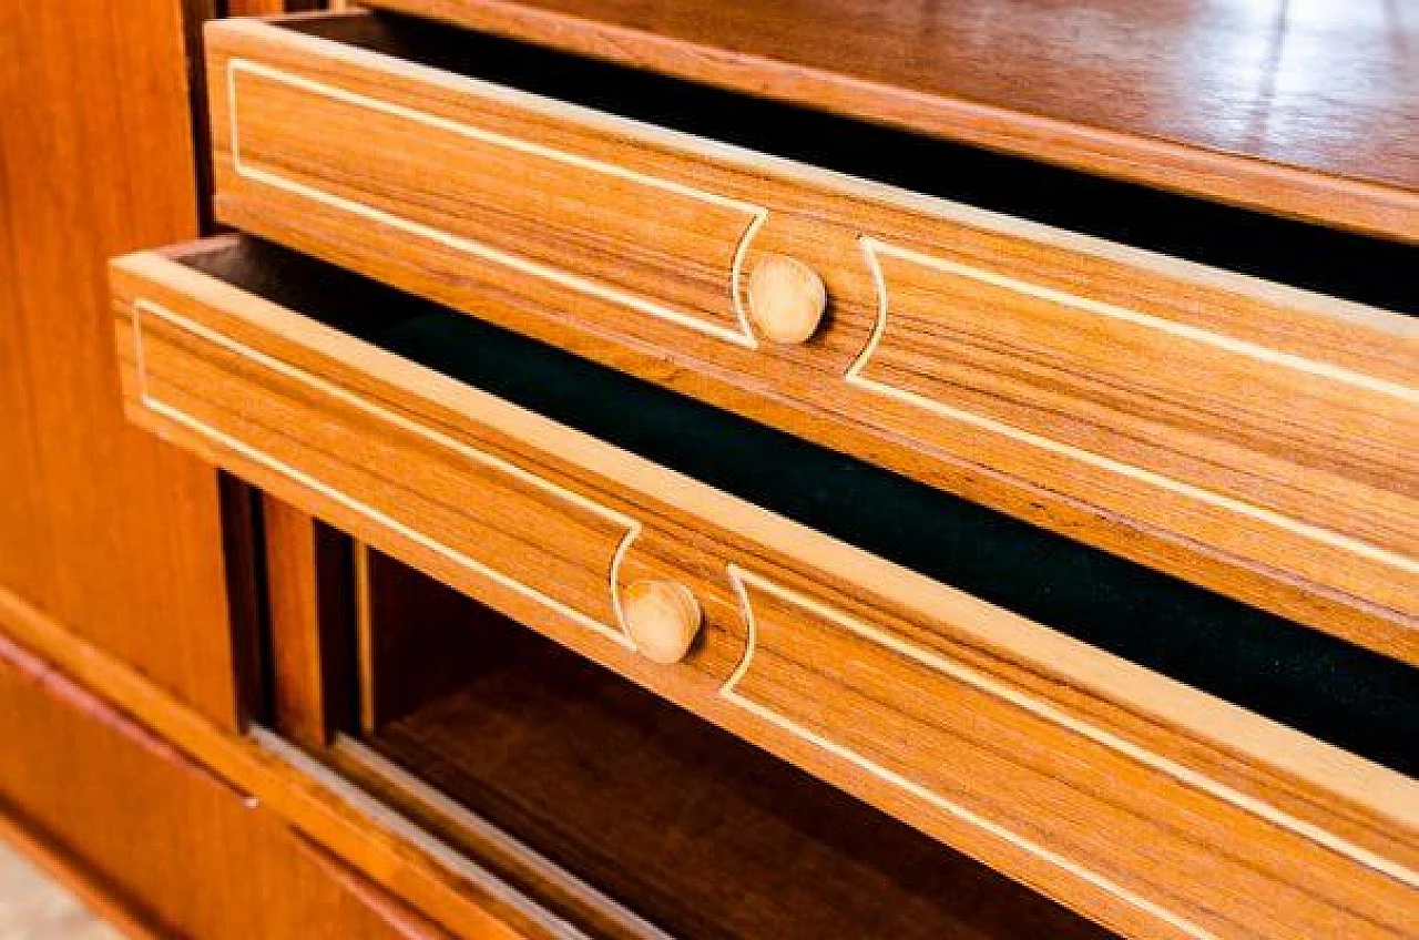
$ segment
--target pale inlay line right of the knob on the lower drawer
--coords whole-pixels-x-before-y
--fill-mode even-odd
[[[807,728],[800,727],[790,718],[786,718],[772,711],[771,709],[766,709],[755,703],[753,700],[745,697],[736,690],[739,682],[749,672],[753,655],[758,649],[758,623],[755,621],[753,606],[749,601],[749,595],[748,591],[745,589],[745,585],[753,585],[755,588],[766,594],[775,595],[779,599],[792,603],[793,606],[807,611],[813,616],[819,616],[830,623],[841,626],[843,629],[851,632],[856,636],[861,636],[863,639],[871,643],[877,643],[878,646],[883,646],[885,649],[890,649],[891,652],[904,656],[921,666],[939,672],[944,676],[956,679],[968,686],[972,686],[973,689],[978,689],[979,692],[983,692],[989,696],[993,696],[995,699],[999,699],[1000,701],[1005,701],[1010,706],[1029,711],[1030,714],[1039,718],[1050,721],[1051,724],[1056,724],[1074,734],[1078,734],[1083,738],[1094,741],[1095,744],[1101,744],[1110,750],[1114,750],[1128,757],[1130,760],[1142,764],[1144,767],[1149,767],[1162,774],[1166,774],[1168,777],[1176,780],[1178,782],[1186,787],[1192,787],[1193,789],[1216,797],[1218,799],[1222,799],[1223,802],[1227,802],[1236,807],[1237,809],[1242,809],[1243,812],[1249,812],[1254,816],[1266,819],[1267,822],[1280,826],[1281,829],[1286,829],[1317,845],[1321,845],[1330,849],[1331,852],[1335,852],[1337,855],[1341,855],[1344,858],[1351,859],[1352,862],[1364,865],[1365,868],[1378,872],[1381,875],[1385,875],[1402,885],[1408,885],[1410,887],[1419,887],[1419,872],[1415,872],[1413,869],[1399,862],[1395,862],[1393,859],[1386,859],[1369,849],[1365,849],[1364,846],[1355,845],[1348,839],[1337,836],[1334,832],[1323,829],[1304,819],[1298,819],[1291,814],[1273,807],[1271,804],[1257,799],[1256,797],[1252,797],[1232,787],[1227,787],[1226,784],[1212,780],[1205,774],[1199,774],[1198,771],[1189,767],[1168,760],[1166,757],[1162,757],[1154,751],[1139,747],[1132,741],[1121,738],[1117,734],[1111,734],[1110,731],[1098,728],[1087,721],[1081,721],[1050,706],[1049,703],[1027,696],[1019,692],[1017,689],[1012,689],[1010,686],[1003,684],[992,679],[990,676],[981,673],[979,670],[975,670],[962,663],[952,662],[951,659],[946,659],[939,653],[932,653],[920,646],[908,643],[880,628],[863,623],[861,621],[857,621],[849,616],[847,613],[833,606],[829,606],[827,603],[823,603],[822,601],[805,596],[803,594],[792,588],[788,588],[762,575],[746,571],[745,568],[741,568],[736,564],[728,565],[728,578],[729,578],[729,585],[734,589],[734,594],[739,603],[741,616],[744,619],[746,630],[746,640],[745,640],[744,659],[739,662],[738,667],[735,667],[729,679],[725,680],[724,686],[719,690],[719,694],[725,699],[729,699],[731,701],[734,701],[741,707],[749,709],[759,717],[766,718],[773,724],[778,724],[779,727],[783,727],[785,730],[796,736],[800,736],[805,740],[809,740],[819,747],[827,748],[833,754],[837,754],[839,757],[851,761],[853,764],[880,777],[881,780],[885,780],[893,785],[902,787],[908,789],[912,795],[927,799],[928,802],[941,805],[944,809],[948,809],[952,815],[966,819],[973,825],[982,825],[983,828],[989,829],[990,832],[995,832],[996,835],[1006,834],[1003,828],[995,824],[989,824],[988,821],[976,816],[976,814],[971,812],[969,809],[956,807],[955,804],[949,804],[948,801],[944,801],[938,794],[927,789],[920,784],[912,782],[911,780],[902,777],[901,774],[897,774],[885,767],[881,767],[870,761],[868,758],[861,757],[856,751],[851,751],[850,748],[824,740],[822,736],[809,731]],[[1023,848],[1027,848],[1032,852],[1039,853],[1040,858],[1053,860],[1053,853],[1049,853],[1047,849],[1039,848],[1032,842],[1019,839],[1009,834],[1003,835],[1002,838],[1009,838],[1012,842]]]

